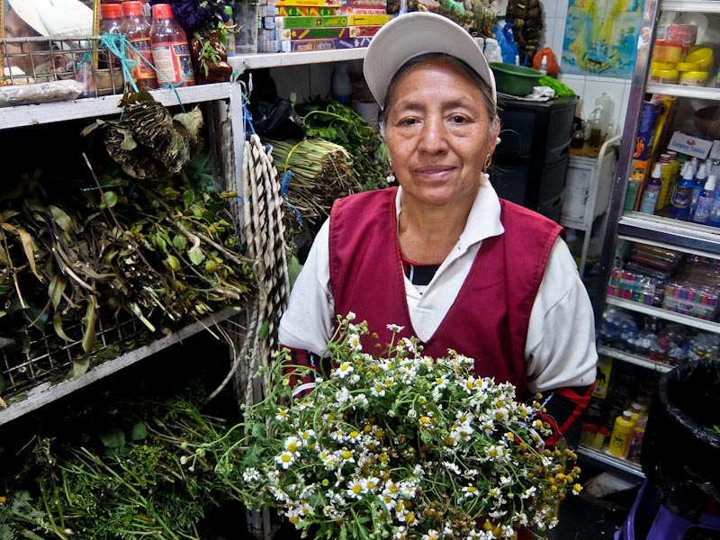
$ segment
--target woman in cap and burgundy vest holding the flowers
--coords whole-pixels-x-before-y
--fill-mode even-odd
[[[280,341],[298,364],[317,366],[336,314],[354,311],[382,343],[386,325],[403,326],[430,356],[453,348],[521,399],[542,392],[553,444],[590,400],[590,299],[560,226],[491,187],[500,120],[481,50],[449,19],[412,13],[377,33],[364,69],[400,187],[335,203]],[[312,387],[305,377],[295,392]]]

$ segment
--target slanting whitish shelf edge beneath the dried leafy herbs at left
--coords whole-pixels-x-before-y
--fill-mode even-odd
[[[175,345],[175,343],[179,343],[186,338],[190,338],[204,329],[209,329],[223,320],[228,320],[229,318],[238,315],[241,311],[242,310],[239,308],[227,308],[223,311],[219,311],[218,313],[214,313],[210,317],[193,322],[193,324],[186,326],[184,329],[168,334],[164,338],[157,339],[144,347],[139,347],[129,353],[118,356],[112,360],[104,362],[101,365],[91,368],[87,371],[87,373],[77,377],[76,379],[70,379],[60,383],[42,383],[34,387],[31,391],[9,400],[5,409],[0,408],[0,426],[11,420],[20,418],[32,410],[40,409],[43,405],[47,405],[52,401],[65,397],[68,394],[87,386],[88,384],[92,384],[104,377],[115,374],[122,368],[133,365],[148,356],[154,355],[166,347],[170,347],[171,345]]]

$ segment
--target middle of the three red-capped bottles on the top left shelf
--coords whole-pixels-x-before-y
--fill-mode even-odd
[[[130,75],[138,90],[157,88],[157,76],[153,67],[150,25],[142,13],[142,2],[127,0],[122,4],[121,31],[128,37],[130,46],[127,57],[135,62]],[[125,81],[126,84],[130,81]]]

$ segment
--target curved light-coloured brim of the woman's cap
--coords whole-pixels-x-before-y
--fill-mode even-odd
[[[495,77],[478,43],[462,26],[440,14],[411,12],[386,23],[365,52],[365,82],[383,107],[392,76],[421,54],[443,52],[464,60],[491,87],[496,102]]]

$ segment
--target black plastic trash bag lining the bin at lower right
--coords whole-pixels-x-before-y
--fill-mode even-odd
[[[696,522],[720,504],[720,362],[696,360],[663,374],[640,461],[658,500]]]

